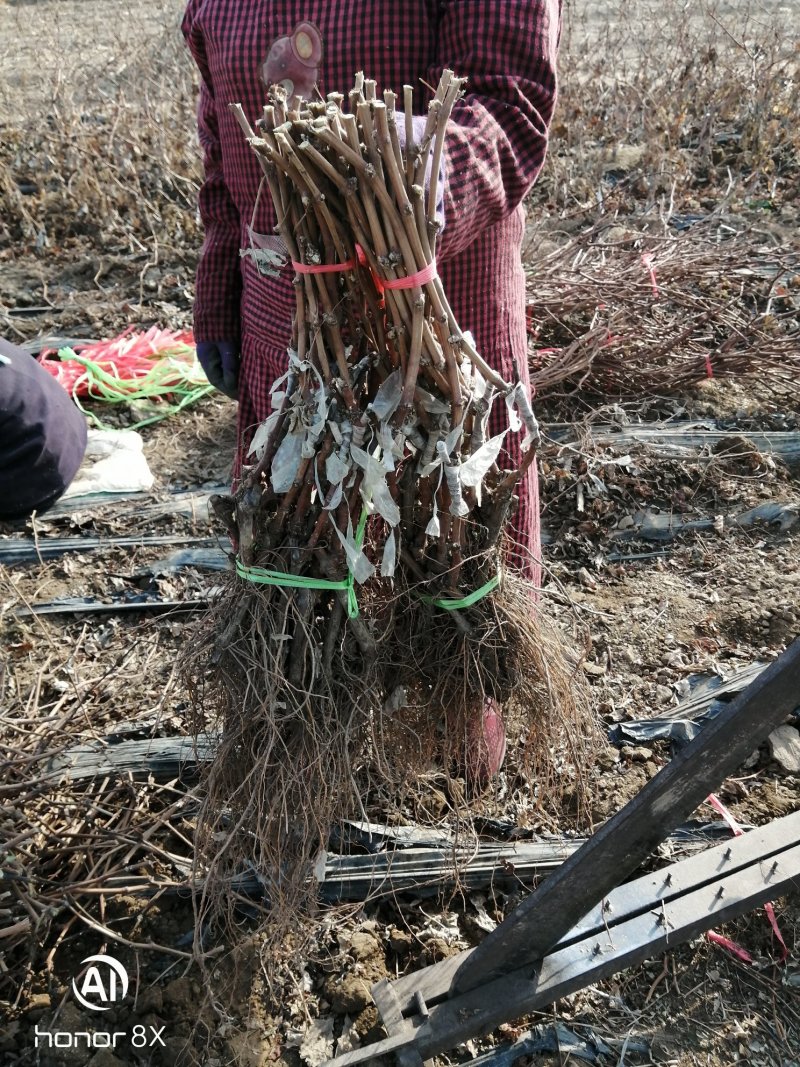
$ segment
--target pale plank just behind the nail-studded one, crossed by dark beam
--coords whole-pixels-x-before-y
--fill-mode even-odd
[[[710,885],[721,874],[735,874],[759,859],[772,857],[786,847],[786,842],[800,840],[800,812],[785,816],[780,824],[780,833],[774,830],[774,824],[759,827],[737,839],[735,849],[731,839],[722,846],[705,848],[699,855],[618,887],[564,934],[557,949],[564,949],[582,939],[605,936],[656,904],[670,903],[684,893]],[[429,1005],[445,1000],[453,978],[462,968],[467,967],[476,952],[476,949],[469,949],[393,982],[393,993],[400,1012],[403,1015],[413,1012],[417,992]]]

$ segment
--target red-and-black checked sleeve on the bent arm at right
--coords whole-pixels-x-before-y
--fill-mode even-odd
[[[467,78],[445,148],[446,261],[522,203],[544,162],[556,105],[561,0],[443,4],[435,85],[444,67]]]

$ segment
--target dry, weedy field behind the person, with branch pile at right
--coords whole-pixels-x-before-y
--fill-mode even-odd
[[[0,329],[12,338],[101,334],[121,312],[188,322],[199,171],[181,10],[0,6]],[[602,398],[671,392],[704,377],[711,352],[718,378],[755,366],[794,381],[790,20],[789,7],[750,0],[566,4],[560,103],[526,242],[540,396],[577,382]],[[700,277],[697,255],[713,259],[722,243],[724,270]],[[669,262],[657,315],[642,314],[644,253]],[[610,345],[593,330],[598,304]]]

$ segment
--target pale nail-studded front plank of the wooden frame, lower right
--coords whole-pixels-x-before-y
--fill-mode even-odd
[[[651,896],[650,907],[612,930],[601,936],[593,933],[591,937],[549,953],[538,964],[521,967],[485,986],[444,1000],[429,1007],[427,1017],[404,1020],[390,1037],[338,1056],[330,1061],[327,1067],[373,1063],[409,1045],[427,1060],[688,941],[790,888],[800,889],[800,843],[791,840],[787,825],[790,824],[785,819],[779,819],[764,828],[767,847],[773,857],[769,864],[756,858],[746,867],[711,885],[704,883],[663,906],[660,898]],[[746,841],[747,835],[737,838],[730,845],[718,845],[713,851],[721,857],[730,847],[736,864],[736,856]],[[778,851],[772,850],[775,842],[779,843]],[[681,865],[673,865],[673,877]],[[614,899],[614,894],[610,894],[612,907]]]

